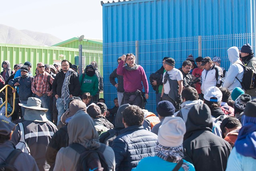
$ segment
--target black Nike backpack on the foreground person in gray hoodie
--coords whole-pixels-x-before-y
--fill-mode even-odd
[[[100,147],[94,150],[86,150],[79,143],[73,143],[69,147],[80,154],[77,171],[109,171],[108,164],[101,152],[105,150],[106,145],[101,143]]]

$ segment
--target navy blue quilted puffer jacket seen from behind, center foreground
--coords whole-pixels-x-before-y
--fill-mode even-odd
[[[119,131],[112,144],[116,171],[130,171],[144,157],[154,156],[156,142],[157,135],[143,126],[130,126]]]

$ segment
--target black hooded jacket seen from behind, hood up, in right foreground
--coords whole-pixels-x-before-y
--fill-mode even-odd
[[[196,171],[224,171],[232,147],[212,133],[212,117],[206,104],[194,105],[188,112],[184,135],[184,159]]]

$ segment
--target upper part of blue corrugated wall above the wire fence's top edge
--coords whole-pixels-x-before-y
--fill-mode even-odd
[[[103,4],[103,43],[255,32],[255,0]]]

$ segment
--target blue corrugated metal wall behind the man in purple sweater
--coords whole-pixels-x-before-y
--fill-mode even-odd
[[[104,98],[109,104],[116,90],[108,76],[117,67],[119,56],[135,54],[136,40],[136,63],[142,65],[148,81],[161,67],[164,56],[174,58],[176,68],[189,54],[198,57],[197,36],[202,36],[202,57],[220,56],[226,69],[229,47],[247,42],[255,46],[255,35],[233,35],[255,33],[254,0],[134,0],[102,6]],[[155,112],[154,99],[150,86],[147,109]]]

